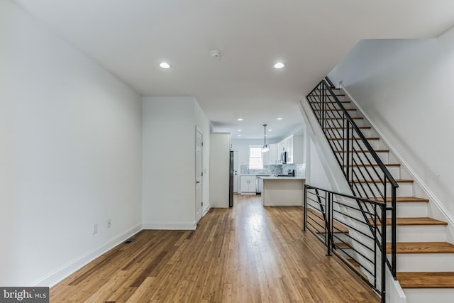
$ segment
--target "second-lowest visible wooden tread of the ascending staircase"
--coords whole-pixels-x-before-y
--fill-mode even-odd
[[[391,243],[386,243],[386,253],[391,253]],[[397,242],[396,253],[454,253],[448,242]]]

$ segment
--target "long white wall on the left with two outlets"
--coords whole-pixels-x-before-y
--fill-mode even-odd
[[[140,228],[141,102],[11,1],[0,23],[0,285],[49,286]]]

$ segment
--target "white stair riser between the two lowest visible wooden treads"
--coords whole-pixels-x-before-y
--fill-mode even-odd
[[[454,253],[397,253],[396,264],[397,272],[449,272],[454,271]]]

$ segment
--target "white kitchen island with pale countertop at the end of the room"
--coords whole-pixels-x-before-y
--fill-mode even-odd
[[[304,177],[260,177],[263,206],[302,206]]]

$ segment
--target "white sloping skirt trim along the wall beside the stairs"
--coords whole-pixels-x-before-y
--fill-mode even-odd
[[[421,177],[419,177],[419,175],[416,174],[416,172],[411,169],[410,165],[408,162],[406,162],[404,160],[404,157],[402,157],[402,155],[397,151],[396,148],[394,148],[394,145],[392,145],[391,143],[389,143],[389,141],[387,140],[387,138],[383,135],[383,133],[377,128],[377,126],[375,125],[375,123],[372,122],[372,120],[369,118],[369,116],[367,116],[367,114],[365,113],[365,111],[362,110],[360,104],[358,104],[358,102],[355,100],[355,98],[353,98],[353,96],[348,92],[348,90],[343,86],[342,82],[339,82],[339,88],[343,89],[343,91],[345,92],[345,94],[350,98],[350,100],[355,104],[355,106],[358,108],[358,110],[361,112],[361,114],[365,117],[365,119],[367,119],[367,121],[370,123],[370,125],[372,126],[372,128],[375,129],[375,131],[377,132],[378,136],[380,136],[380,139],[383,140],[383,142],[388,146],[389,150],[392,151],[392,153],[396,156],[397,160],[399,160],[399,162],[401,162],[402,166],[405,167],[405,169],[409,172],[409,174],[411,175],[411,177],[414,179],[414,181],[419,184],[419,186],[421,187],[421,189],[423,190],[423,192],[425,192],[427,194],[427,198],[433,202],[433,204],[435,204],[437,206],[437,208],[441,211],[441,214],[443,214],[443,216],[445,216],[446,220],[448,220],[450,226],[454,226],[454,216],[452,214],[450,214],[450,212],[448,211],[448,209],[446,209],[446,207],[443,205],[443,203],[441,203],[440,199],[438,199],[436,197],[435,194],[433,194],[433,192],[431,191],[431,189],[429,189],[429,187],[427,186],[427,184],[425,182],[423,182],[423,180],[421,179]]]

